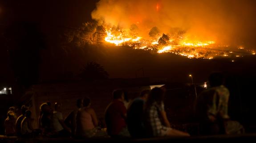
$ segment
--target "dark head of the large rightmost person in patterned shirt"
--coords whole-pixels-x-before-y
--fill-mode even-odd
[[[210,74],[208,80],[211,87],[220,86],[224,83],[224,76],[220,72],[215,72]]]

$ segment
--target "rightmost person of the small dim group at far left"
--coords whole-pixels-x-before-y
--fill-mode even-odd
[[[25,117],[21,122],[21,135],[23,136],[29,136],[32,135],[33,132],[33,127],[32,127],[32,122],[33,119],[31,118],[32,112],[30,110],[26,110],[25,112]]]

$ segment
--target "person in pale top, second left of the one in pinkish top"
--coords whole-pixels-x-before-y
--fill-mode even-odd
[[[61,112],[61,104],[57,102],[54,104],[53,129],[54,132],[57,133],[57,136],[68,136],[71,132],[71,130],[64,123]]]

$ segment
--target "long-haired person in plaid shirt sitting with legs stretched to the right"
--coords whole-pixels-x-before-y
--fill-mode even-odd
[[[171,128],[164,110],[164,92],[160,88],[151,90],[145,107],[145,125],[147,135],[159,136],[189,136],[186,132]]]

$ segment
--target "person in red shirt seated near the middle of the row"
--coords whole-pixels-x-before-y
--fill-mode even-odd
[[[123,103],[123,90],[114,90],[113,97],[113,102],[108,105],[105,112],[108,135],[111,137],[128,137],[130,133],[126,127],[126,107]]]

